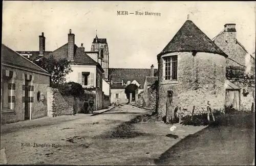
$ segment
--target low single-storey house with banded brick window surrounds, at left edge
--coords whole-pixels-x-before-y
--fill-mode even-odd
[[[50,74],[2,44],[1,123],[47,116]]]

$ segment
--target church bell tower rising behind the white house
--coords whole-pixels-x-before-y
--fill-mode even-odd
[[[104,69],[103,78],[109,81],[109,47],[106,39],[96,37],[93,39],[91,51],[98,51],[101,59],[101,67]]]

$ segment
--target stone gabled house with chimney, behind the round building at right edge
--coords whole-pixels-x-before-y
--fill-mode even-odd
[[[224,29],[212,40],[228,55],[226,77],[241,88],[241,110],[250,111],[255,103],[255,53],[254,56],[250,54],[238,41],[236,23],[226,23]],[[237,101],[236,95],[230,97],[231,101]]]

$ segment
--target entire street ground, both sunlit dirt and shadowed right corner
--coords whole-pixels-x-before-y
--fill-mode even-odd
[[[18,122],[23,126],[19,129],[11,129],[13,124],[2,125],[1,149],[5,148],[8,164],[236,165],[248,164],[253,159],[254,138],[247,136],[250,130],[245,129],[241,136],[240,132],[227,129],[226,136],[205,126],[176,125],[177,129],[170,132],[172,125],[134,121],[136,116],[146,113],[149,111],[124,105],[95,116],[59,116],[59,123],[53,123],[54,118],[33,120],[31,124],[38,123],[33,128],[22,125],[29,121]],[[199,134],[195,135],[196,132]],[[212,158],[208,158],[210,155]]]

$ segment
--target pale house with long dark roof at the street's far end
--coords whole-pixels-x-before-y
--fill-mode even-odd
[[[129,84],[136,84],[138,91],[135,95],[143,91],[146,76],[157,74],[154,66],[151,68],[109,68],[109,78],[111,80],[111,103],[127,103],[129,100],[124,92]],[[134,97],[133,100],[136,97]]]

